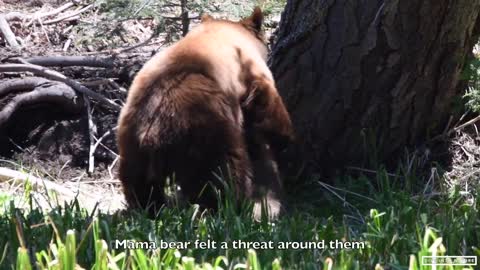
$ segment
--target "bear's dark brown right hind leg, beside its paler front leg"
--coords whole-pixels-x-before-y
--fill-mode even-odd
[[[183,159],[189,165],[176,174],[188,201],[210,209],[218,205],[212,185],[223,189],[222,181],[231,180],[236,201],[252,198],[252,169],[242,128],[232,119],[213,115],[207,127],[195,129],[189,138],[192,147],[186,151],[188,159]]]

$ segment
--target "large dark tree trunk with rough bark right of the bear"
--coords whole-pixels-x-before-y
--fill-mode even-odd
[[[270,65],[317,169],[398,159],[442,131],[480,0],[289,0]]]

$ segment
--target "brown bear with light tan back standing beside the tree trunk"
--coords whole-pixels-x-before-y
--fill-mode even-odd
[[[154,213],[171,177],[189,201],[215,208],[215,198],[202,194],[220,168],[230,173],[237,198],[257,202],[256,217],[261,196],[270,216],[278,214],[274,153],[293,129],[266,65],[262,22],[259,8],[239,22],[205,15],[138,72],[117,135],[119,178],[130,207]]]

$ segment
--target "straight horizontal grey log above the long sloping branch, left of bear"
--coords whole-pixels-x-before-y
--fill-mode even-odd
[[[113,67],[113,57],[97,56],[35,56],[23,58],[30,64],[44,67]],[[15,59],[14,59],[15,60]]]

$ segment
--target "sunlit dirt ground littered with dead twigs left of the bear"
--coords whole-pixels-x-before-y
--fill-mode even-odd
[[[94,39],[94,28],[77,27],[84,33],[65,31],[76,29],[75,27],[82,21],[95,21],[97,19],[95,12],[82,13],[77,21],[49,25],[33,23],[26,26],[36,14],[49,12],[67,2],[70,1],[0,0],[0,14],[21,12],[30,16],[25,20],[9,22],[22,46],[21,51],[9,48],[0,35],[0,62],[7,63],[11,57],[18,56],[98,55],[105,57],[110,56],[114,49],[128,48],[148,40],[153,34],[151,21],[125,22],[123,27],[128,31],[122,34],[123,45],[116,47],[113,46],[117,45],[116,43],[105,42],[102,37],[91,42],[83,40],[88,37]],[[78,9],[75,7],[43,20],[68,15]],[[71,45],[65,49],[68,39],[72,39]],[[88,67],[52,69],[122,104],[126,97],[125,89],[128,89],[135,72],[143,62],[164,46],[164,43],[165,36],[158,35],[151,38],[147,44],[128,53],[119,54],[114,60],[113,69]],[[0,83],[18,76],[19,74],[14,73],[0,73]],[[104,79],[109,79],[113,83],[107,86],[102,82],[95,83]],[[5,105],[10,98],[11,96],[0,96],[0,104]],[[0,181],[0,202],[2,196],[13,196],[17,206],[28,209],[31,195],[33,205],[49,209],[56,203],[63,204],[77,196],[80,204],[89,211],[96,208],[108,212],[125,207],[120,183],[116,176],[118,155],[113,128],[116,126],[118,113],[105,109],[95,102],[92,103],[91,109],[96,139],[110,132],[110,135],[102,139],[95,151],[95,168],[91,174],[87,173],[89,128],[85,110],[77,114],[68,114],[50,104],[40,104],[15,113],[6,127],[0,128],[0,167],[26,172],[31,177],[58,183],[72,191],[65,194],[55,189],[45,190],[41,185],[30,186],[29,181],[25,179],[3,179]],[[56,195],[53,195],[55,193]]]

